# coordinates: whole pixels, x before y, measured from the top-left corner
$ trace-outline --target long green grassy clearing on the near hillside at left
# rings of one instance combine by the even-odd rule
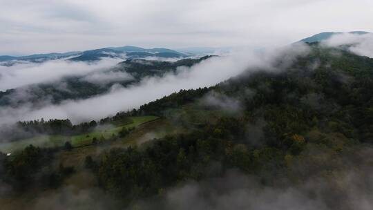
[[[117,135],[117,133],[124,127],[135,128],[146,122],[157,120],[157,118],[158,117],[155,116],[131,117],[131,120],[133,120],[133,123],[131,124],[126,124],[122,126],[103,126],[102,128],[97,128],[97,131],[84,133],[81,135],[43,135],[38,137],[32,137],[26,140],[19,140],[17,142],[3,143],[0,144],[0,151],[3,153],[12,153],[14,151],[23,149],[30,144],[39,147],[55,147],[63,146],[65,142],[70,142],[74,147],[86,146],[92,143],[94,137],[96,137],[97,139],[101,137],[108,138],[112,135]]]

